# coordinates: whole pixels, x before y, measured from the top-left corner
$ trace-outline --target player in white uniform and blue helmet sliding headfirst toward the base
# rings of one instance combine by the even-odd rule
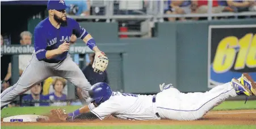
[[[133,95],[112,92],[107,83],[96,83],[90,90],[91,104],[66,114],[64,110],[54,109],[62,121],[75,119],[104,119],[113,115],[121,119],[153,120],[196,120],[202,118],[209,110],[222,103],[229,96],[256,95],[256,83],[249,74],[216,86],[207,92],[184,94],[171,84],[160,85],[157,95]]]

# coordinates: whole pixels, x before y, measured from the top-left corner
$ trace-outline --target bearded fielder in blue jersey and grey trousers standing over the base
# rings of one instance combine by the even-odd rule
[[[83,97],[88,97],[90,83],[68,54],[72,34],[83,40],[95,51],[94,72],[104,72],[108,58],[96,46],[95,40],[74,20],[66,17],[64,1],[48,1],[49,17],[35,28],[35,50],[30,63],[24,69],[19,81],[1,94],[1,109],[18,95],[28,91],[33,84],[48,77],[58,76],[68,79],[75,86],[82,88]]]

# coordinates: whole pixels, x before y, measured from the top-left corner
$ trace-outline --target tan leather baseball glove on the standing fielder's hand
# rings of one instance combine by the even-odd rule
[[[100,73],[104,72],[108,65],[108,58],[104,52],[95,52],[93,69],[94,72]]]

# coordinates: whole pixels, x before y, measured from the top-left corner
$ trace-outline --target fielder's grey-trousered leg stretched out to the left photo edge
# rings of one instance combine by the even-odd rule
[[[36,55],[32,55],[30,63],[27,65],[18,82],[7,88],[1,94],[1,109],[3,106],[11,103],[18,95],[30,90],[31,86],[51,77],[51,69],[48,69],[47,63],[38,61]]]

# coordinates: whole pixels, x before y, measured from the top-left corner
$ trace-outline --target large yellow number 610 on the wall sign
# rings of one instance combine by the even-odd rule
[[[236,63],[236,48],[238,54]],[[244,69],[245,64],[249,68],[256,68],[256,34],[246,34],[238,40],[237,37],[230,36],[220,41],[213,60],[213,70],[216,73],[223,73],[232,68]]]

